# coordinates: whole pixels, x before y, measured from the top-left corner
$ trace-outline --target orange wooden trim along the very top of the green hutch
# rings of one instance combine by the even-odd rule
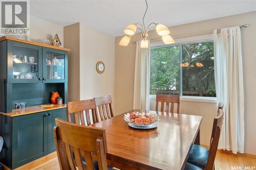
[[[33,41],[26,41],[26,40],[13,38],[13,37],[8,37],[8,36],[0,37],[0,41],[4,41],[4,40],[12,40],[12,41],[22,42],[22,43],[26,43],[26,44],[32,44],[32,45],[43,46],[43,47],[47,47],[47,48],[53,48],[53,49],[57,49],[57,50],[67,51],[67,52],[70,51],[70,49],[68,49],[68,48],[57,47],[57,46],[42,44],[42,43],[33,42]]]

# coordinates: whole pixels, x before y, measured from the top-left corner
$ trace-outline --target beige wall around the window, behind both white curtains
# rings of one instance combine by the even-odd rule
[[[242,53],[244,66],[244,89],[245,89],[245,152],[256,155],[256,114],[255,102],[256,95],[254,86],[256,84],[255,76],[255,39],[256,39],[256,12],[249,12],[239,15],[232,15],[222,18],[210,19],[185,25],[170,27],[172,36],[201,32],[219,28],[239,26],[248,23],[249,27],[242,29]],[[134,88],[134,65],[136,45],[130,43],[128,46],[118,45],[122,37],[116,37],[116,71],[115,71],[115,112],[120,114],[133,108],[133,88]],[[149,39],[160,38],[155,31],[151,31]],[[132,36],[132,41],[141,40],[141,36],[136,34]],[[154,108],[154,102],[151,101]],[[209,138],[212,127],[212,118],[215,116],[216,104],[203,102],[182,101],[180,112],[185,114],[202,115],[203,122],[201,126],[202,144],[209,144]]]

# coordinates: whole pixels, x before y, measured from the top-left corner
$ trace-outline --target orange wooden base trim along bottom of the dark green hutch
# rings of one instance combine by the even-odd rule
[[[15,168],[14,170],[22,170],[22,169],[32,169],[34,167],[37,167],[53,158],[56,158],[57,157],[57,153],[56,151],[51,153],[51,154],[48,154],[44,157],[41,157],[39,159],[36,159],[36,160],[33,160],[32,162],[29,162],[25,165],[22,165],[22,166],[19,166],[17,168]],[[2,164],[2,163],[1,163]],[[4,170],[10,170],[10,168],[8,168],[7,166],[5,166],[4,164],[2,164],[4,166]]]

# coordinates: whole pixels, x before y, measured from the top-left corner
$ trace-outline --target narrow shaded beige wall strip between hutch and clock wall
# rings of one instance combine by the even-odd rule
[[[69,78],[68,78],[68,99],[69,101],[76,101],[80,99],[80,25],[75,23],[64,27],[64,44],[65,47],[70,48],[69,51]]]

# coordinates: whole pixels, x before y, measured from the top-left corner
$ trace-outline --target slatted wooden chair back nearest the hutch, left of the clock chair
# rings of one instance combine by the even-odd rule
[[[94,99],[68,102],[67,117],[68,121],[78,125],[89,126],[97,121],[96,107]],[[90,115],[91,110],[91,115]],[[91,117],[93,122],[91,122]]]

